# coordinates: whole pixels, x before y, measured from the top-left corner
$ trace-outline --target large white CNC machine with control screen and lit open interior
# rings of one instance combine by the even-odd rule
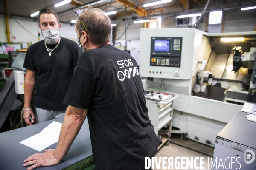
[[[253,88],[256,32],[141,28],[140,33],[145,90],[177,94],[172,126],[214,147],[215,136],[241,110]],[[244,39],[223,39],[237,37]]]

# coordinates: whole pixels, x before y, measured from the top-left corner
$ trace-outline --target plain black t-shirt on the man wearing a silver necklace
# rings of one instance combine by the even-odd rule
[[[53,49],[56,45],[47,47]],[[64,111],[67,108],[63,101],[81,53],[76,42],[62,37],[51,56],[44,40],[29,47],[23,67],[36,71],[36,107],[52,111]]]

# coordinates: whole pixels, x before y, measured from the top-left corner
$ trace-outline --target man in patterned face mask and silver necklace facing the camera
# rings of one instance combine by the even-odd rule
[[[29,125],[32,125],[29,117],[35,119],[30,106],[34,89],[39,123],[64,117],[67,105],[63,101],[82,53],[76,42],[60,37],[61,24],[54,11],[42,9],[38,18],[44,40],[29,47],[23,65],[26,68],[23,117]]]

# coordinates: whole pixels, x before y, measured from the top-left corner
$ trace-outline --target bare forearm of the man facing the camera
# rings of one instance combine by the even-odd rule
[[[35,89],[35,81],[30,81],[25,79],[24,85],[24,108],[30,108],[30,103],[32,95]]]

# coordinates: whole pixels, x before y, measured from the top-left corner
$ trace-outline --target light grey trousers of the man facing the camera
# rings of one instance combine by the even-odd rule
[[[64,117],[65,115],[65,111],[51,111],[41,108],[36,108],[36,112],[38,116],[38,123]]]

